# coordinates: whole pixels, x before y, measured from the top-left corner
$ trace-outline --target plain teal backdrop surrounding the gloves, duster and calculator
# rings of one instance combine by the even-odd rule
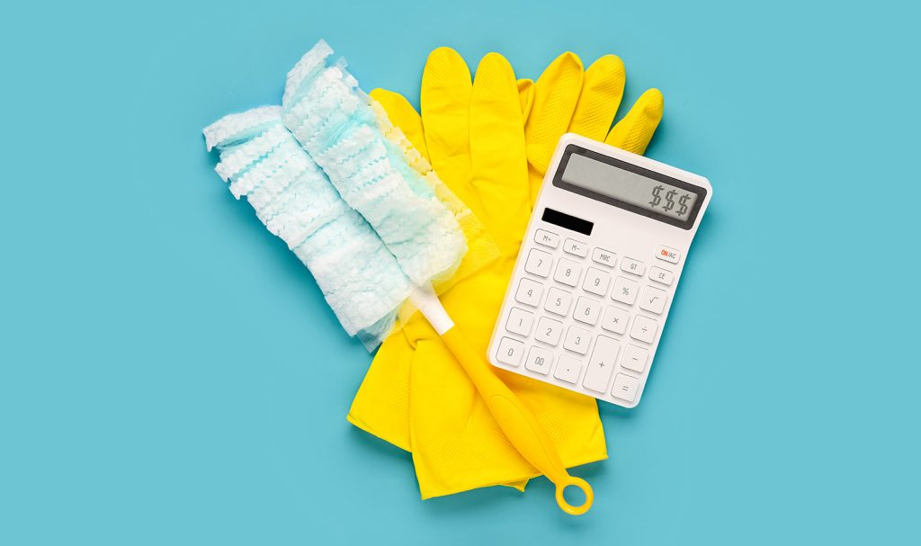
[[[919,13],[908,3],[17,3],[0,17],[0,543],[917,543]],[[648,155],[712,180],[643,403],[550,484],[421,502],[344,416],[370,355],[212,171],[319,38],[616,52]],[[625,108],[624,110],[625,111]],[[623,114],[622,111],[622,114]]]

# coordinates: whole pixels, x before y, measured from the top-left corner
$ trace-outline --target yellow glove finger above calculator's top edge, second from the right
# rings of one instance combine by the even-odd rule
[[[585,71],[569,132],[603,140],[624,98],[625,81],[624,62],[617,55],[604,55],[592,63]]]

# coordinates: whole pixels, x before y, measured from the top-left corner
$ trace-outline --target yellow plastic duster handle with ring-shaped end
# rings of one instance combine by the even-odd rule
[[[550,436],[547,436],[528,407],[495,375],[493,368],[484,358],[471,349],[457,326],[442,333],[441,339],[472,379],[508,441],[531,466],[554,482],[556,504],[560,505],[565,513],[573,516],[588,512],[595,500],[589,482],[569,475]],[[585,494],[585,502],[582,505],[574,506],[566,502],[563,493],[565,488],[570,486],[581,489]]]

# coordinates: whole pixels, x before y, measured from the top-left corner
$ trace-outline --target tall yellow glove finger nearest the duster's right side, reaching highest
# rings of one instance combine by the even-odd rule
[[[470,180],[470,69],[461,55],[440,47],[428,55],[422,74],[422,120],[432,166],[465,203]]]

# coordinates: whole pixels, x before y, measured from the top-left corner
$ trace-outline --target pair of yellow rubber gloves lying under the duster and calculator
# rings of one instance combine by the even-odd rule
[[[539,187],[556,140],[566,131],[603,138],[623,87],[623,64],[612,55],[583,73],[577,56],[565,53],[531,85],[516,82],[507,61],[491,53],[471,84],[461,56],[440,48],[426,63],[421,117],[402,96],[371,92],[502,251],[498,261],[441,296],[477,350],[486,351],[527,227],[531,188]],[[657,98],[658,115],[649,107]],[[658,91],[647,92],[609,138],[632,135],[637,143],[632,151],[643,151],[661,104]],[[522,112],[529,111],[526,128]],[[544,125],[552,130],[539,131]],[[616,138],[621,140],[615,144],[624,142]],[[496,372],[534,412],[567,467],[607,457],[594,399]],[[413,452],[423,498],[495,484],[523,489],[537,475],[508,444],[461,366],[420,317],[383,343],[348,420]]]

